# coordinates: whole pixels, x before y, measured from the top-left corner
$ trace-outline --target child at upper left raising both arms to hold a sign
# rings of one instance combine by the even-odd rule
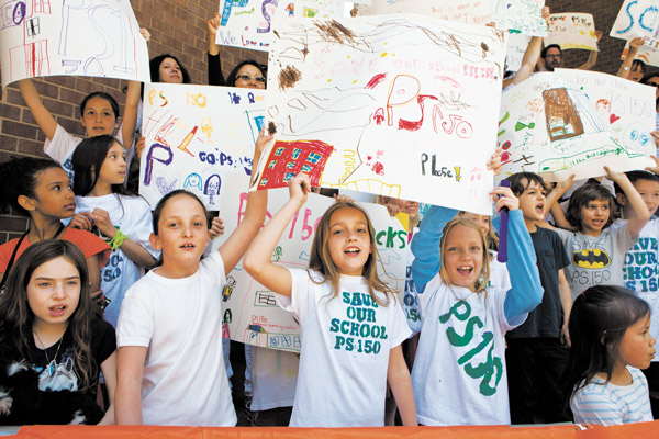
[[[137,124],[137,104],[139,102],[139,82],[129,81],[124,119],[121,127],[121,139],[127,149],[133,146],[135,126]],[[19,89],[32,116],[46,135],[44,153],[62,164],[69,172],[72,170],[71,155],[82,138],[69,134],[62,127],[46,109],[38,97],[32,79],[19,81]],[[96,91],[88,94],[80,104],[80,123],[88,137],[102,134],[113,135],[121,123],[119,104],[110,94]],[[72,177],[71,177],[72,179]]]

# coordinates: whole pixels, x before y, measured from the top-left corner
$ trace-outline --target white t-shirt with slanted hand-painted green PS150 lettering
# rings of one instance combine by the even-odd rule
[[[412,386],[418,423],[511,423],[504,335],[526,319],[507,322],[506,290],[476,294],[446,285],[437,274],[418,294],[422,328]]]

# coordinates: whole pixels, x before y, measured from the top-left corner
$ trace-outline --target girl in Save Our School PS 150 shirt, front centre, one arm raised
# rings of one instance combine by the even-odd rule
[[[392,291],[378,278],[375,236],[366,212],[353,203],[335,203],[325,212],[309,270],[289,270],[270,261],[309,189],[306,175],[289,181],[291,199],[254,239],[244,260],[247,272],[278,294],[280,306],[302,328],[290,425],[383,426],[389,382],[403,425],[414,426],[410,372],[400,346],[410,329]]]

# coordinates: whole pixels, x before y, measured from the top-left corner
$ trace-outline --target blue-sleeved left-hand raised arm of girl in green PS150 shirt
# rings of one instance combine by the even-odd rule
[[[412,279],[418,294],[423,293],[425,285],[439,272],[439,240],[444,234],[444,226],[457,214],[455,209],[431,206],[421,222],[418,232],[412,238]]]

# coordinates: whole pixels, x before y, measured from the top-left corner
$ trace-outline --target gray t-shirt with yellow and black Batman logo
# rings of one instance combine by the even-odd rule
[[[570,283],[572,301],[593,285],[623,285],[625,252],[638,240],[632,238],[628,227],[607,228],[600,236],[581,232],[557,229],[563,243],[570,264],[566,277]]]

